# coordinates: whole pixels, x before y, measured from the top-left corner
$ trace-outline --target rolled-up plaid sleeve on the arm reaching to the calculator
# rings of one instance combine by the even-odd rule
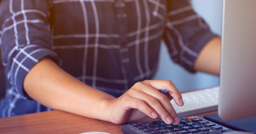
[[[46,0],[4,0],[0,3],[0,45],[7,88],[27,98],[23,81],[43,57],[60,59],[52,50],[49,5]],[[28,97],[29,98],[29,97]]]

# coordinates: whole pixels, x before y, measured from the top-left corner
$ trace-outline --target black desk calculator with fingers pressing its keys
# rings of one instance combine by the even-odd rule
[[[180,118],[179,125],[167,125],[162,120],[121,125],[124,134],[220,134],[232,131],[209,120],[189,116]]]

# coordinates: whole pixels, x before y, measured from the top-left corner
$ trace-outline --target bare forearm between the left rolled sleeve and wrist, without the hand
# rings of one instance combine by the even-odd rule
[[[106,100],[114,99],[72,77],[48,58],[29,71],[24,89],[45,106],[101,120],[108,120],[100,113],[106,108]]]

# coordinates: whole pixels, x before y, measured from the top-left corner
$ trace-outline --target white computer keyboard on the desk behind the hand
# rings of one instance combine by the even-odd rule
[[[182,99],[184,101],[183,106],[178,106],[173,99],[171,100],[171,104],[179,117],[217,110],[219,86],[182,93]]]

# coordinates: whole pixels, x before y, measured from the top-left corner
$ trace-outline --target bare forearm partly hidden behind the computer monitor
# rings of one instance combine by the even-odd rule
[[[220,48],[220,37],[211,39],[199,53],[194,69],[217,76],[220,75]]]

